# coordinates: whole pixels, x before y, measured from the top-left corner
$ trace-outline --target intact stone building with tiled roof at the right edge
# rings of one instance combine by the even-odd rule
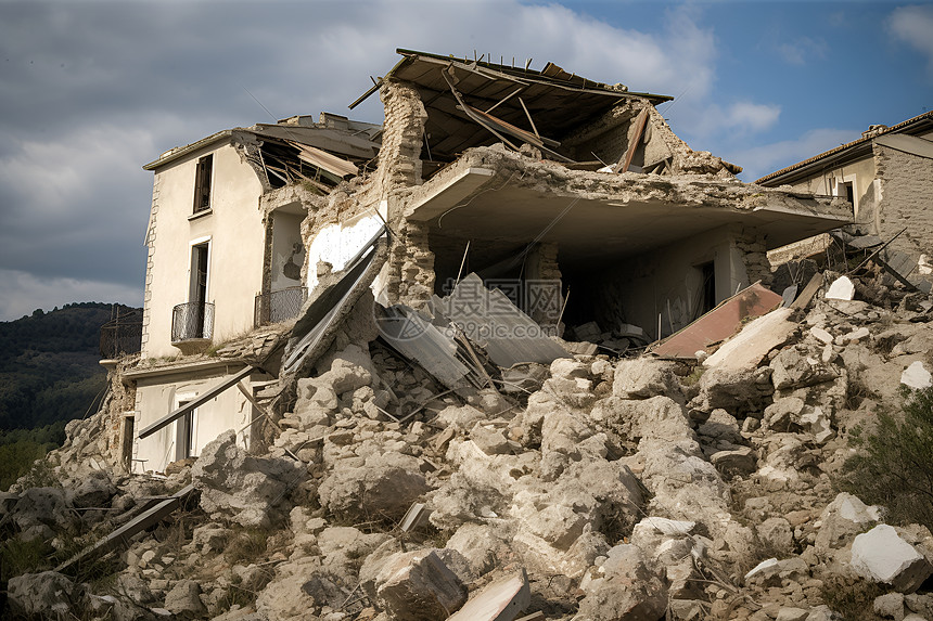
[[[915,262],[933,257],[933,112],[893,127],[873,125],[858,140],[755,183],[843,198],[860,233],[887,242],[906,228],[891,247]]]

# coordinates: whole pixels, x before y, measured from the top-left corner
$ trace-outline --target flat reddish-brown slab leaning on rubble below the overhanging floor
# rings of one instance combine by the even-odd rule
[[[696,351],[736,334],[749,318],[762,316],[783,302],[778,294],[759,283],[742,289],[724,300],[680,332],[667,337],[650,351],[667,358],[695,358]]]

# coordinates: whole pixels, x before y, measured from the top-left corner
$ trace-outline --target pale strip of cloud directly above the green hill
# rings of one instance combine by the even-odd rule
[[[54,307],[77,301],[119,302],[142,306],[142,284],[139,288],[100,281],[76,279],[38,279],[18,270],[0,269],[0,321],[12,321],[30,314],[37,308],[49,311]]]

